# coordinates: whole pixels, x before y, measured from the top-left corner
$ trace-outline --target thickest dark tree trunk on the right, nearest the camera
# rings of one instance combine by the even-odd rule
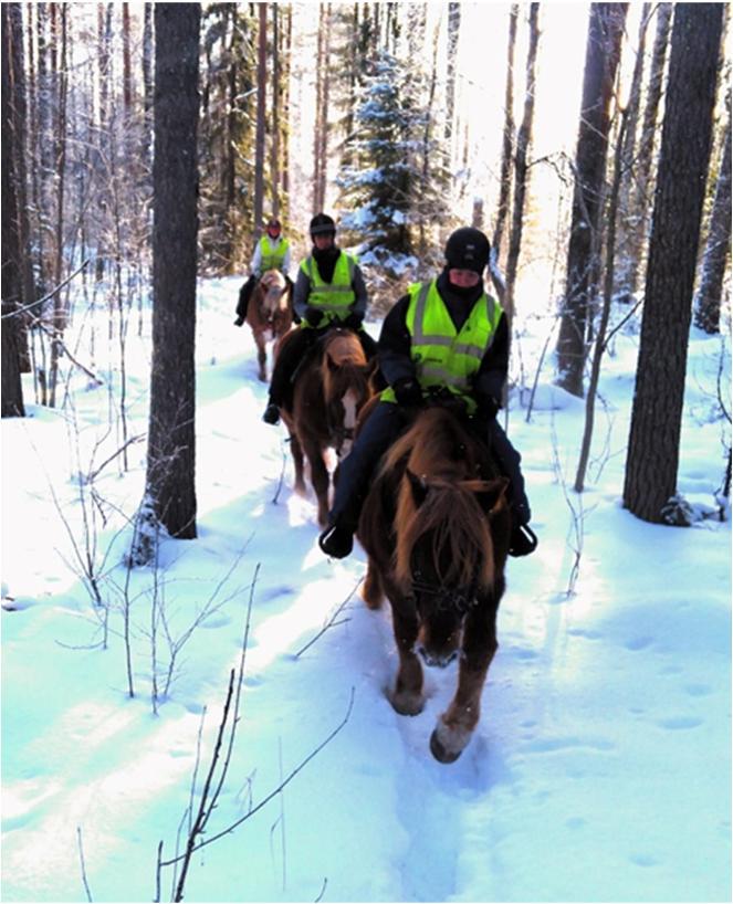
[[[721,3],[678,3],[631,411],[624,505],[664,523],[674,495],[700,221],[705,191]]]

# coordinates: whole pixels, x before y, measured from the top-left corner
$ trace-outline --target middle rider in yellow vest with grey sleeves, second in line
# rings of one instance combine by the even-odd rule
[[[336,223],[326,213],[317,213],[310,229],[313,250],[299,267],[293,293],[293,309],[302,323],[290,334],[275,361],[270,398],[262,416],[270,424],[280,420],[280,407],[287,397],[295,368],[329,327],[353,329],[367,358],[377,354],[377,344],[362,327],[367,292],[356,257],[338,248]]]

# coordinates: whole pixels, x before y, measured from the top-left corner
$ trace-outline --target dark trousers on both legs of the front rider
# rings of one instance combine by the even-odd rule
[[[331,509],[331,523],[356,530],[364,500],[379,459],[407,425],[407,416],[399,404],[379,402],[364,424],[350,453],[338,466],[338,484]],[[478,435],[486,438],[500,471],[510,480],[510,504],[515,521],[527,524],[531,517],[530,502],[524,490],[520,453],[509,441],[495,418],[486,424],[474,422]]]

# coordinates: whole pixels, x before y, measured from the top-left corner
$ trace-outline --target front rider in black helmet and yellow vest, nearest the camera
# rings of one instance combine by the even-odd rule
[[[455,230],[448,239],[440,275],[412,284],[385,318],[379,367],[389,386],[341,462],[328,527],[318,538],[326,555],[344,558],[352,551],[377,462],[409,414],[434,395],[472,416],[510,477],[510,555],[526,556],[536,548],[537,538],[527,526],[531,513],[521,458],[496,421],[509,367],[509,330],[504,312],[483,286],[489,253],[483,232],[470,227]]]

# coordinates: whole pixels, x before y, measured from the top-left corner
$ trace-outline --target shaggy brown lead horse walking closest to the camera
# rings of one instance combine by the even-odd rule
[[[366,498],[358,538],[368,554],[364,598],[389,598],[399,652],[390,701],[421,712],[422,666],[460,652],[458,687],[430,749],[453,763],[471,739],[481,692],[498,649],[511,515],[505,477],[451,411],[428,408],[384,456]]]

